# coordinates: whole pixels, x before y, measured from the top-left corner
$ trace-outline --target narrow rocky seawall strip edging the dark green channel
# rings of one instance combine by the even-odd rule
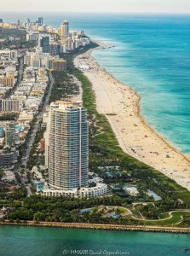
[[[27,221],[27,223],[0,223],[0,226],[25,226],[42,228],[65,228],[80,230],[110,230],[110,231],[133,231],[133,232],[155,232],[170,234],[190,235],[190,228],[169,227],[169,226],[144,226],[144,225],[122,225],[122,224],[85,224],[85,223],[59,223],[59,222],[36,222]]]

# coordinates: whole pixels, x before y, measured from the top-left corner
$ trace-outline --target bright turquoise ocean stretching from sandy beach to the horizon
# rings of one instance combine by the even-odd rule
[[[0,14],[37,20],[33,14]],[[141,113],[165,139],[190,154],[190,15],[39,14],[45,23],[82,29],[114,45],[93,56],[141,96]]]

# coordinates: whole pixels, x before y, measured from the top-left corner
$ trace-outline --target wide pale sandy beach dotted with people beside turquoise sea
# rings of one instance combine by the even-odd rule
[[[79,55],[75,66],[92,83],[97,111],[107,116],[120,147],[190,190],[190,158],[178,152],[147,124],[141,116],[140,96],[100,67],[90,52]]]

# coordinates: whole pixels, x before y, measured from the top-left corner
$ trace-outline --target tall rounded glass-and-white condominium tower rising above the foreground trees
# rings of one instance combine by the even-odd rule
[[[89,123],[79,102],[53,102],[46,134],[46,165],[54,189],[88,185]]]

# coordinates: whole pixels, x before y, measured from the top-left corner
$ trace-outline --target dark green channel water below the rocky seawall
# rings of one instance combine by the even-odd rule
[[[190,255],[189,240],[164,233],[1,226],[0,255],[183,256]]]

